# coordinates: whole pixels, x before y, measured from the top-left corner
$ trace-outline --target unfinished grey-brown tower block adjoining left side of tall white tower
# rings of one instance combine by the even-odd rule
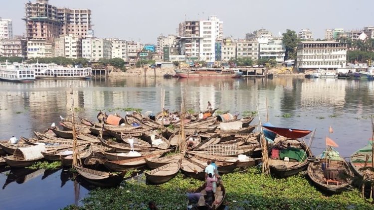
[[[179,24],[179,36],[181,55],[185,55],[187,61],[200,60],[200,21],[185,21]]]

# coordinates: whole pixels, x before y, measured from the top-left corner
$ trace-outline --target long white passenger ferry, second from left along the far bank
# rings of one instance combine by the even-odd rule
[[[30,64],[36,79],[90,79],[92,69],[88,67],[64,67],[57,64]]]

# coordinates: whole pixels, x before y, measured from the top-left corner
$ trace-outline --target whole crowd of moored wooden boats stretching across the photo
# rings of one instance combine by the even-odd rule
[[[125,117],[99,114],[98,122],[62,118],[60,125],[64,129],[51,127],[44,133],[35,132],[33,138],[21,137],[16,144],[0,143],[0,154],[7,154],[0,159],[0,164],[26,167],[45,159],[60,160],[64,167],[71,167],[73,127],[77,130],[78,158],[83,163],[77,172],[99,186],[116,186],[125,173],[133,169],[150,169],[145,172],[148,183],[162,184],[179,171],[188,177],[204,180],[208,160],[215,161],[219,173],[230,173],[236,167],[260,163],[261,135],[253,133],[255,126],[250,124],[253,116],[237,119],[228,112],[215,116],[212,112],[214,110],[207,110],[200,116],[198,113],[189,114],[184,123],[181,123],[179,113],[167,111],[156,116],[136,112]],[[73,124],[73,121],[77,123]],[[338,145],[331,139],[326,140],[329,142],[326,150],[314,157],[310,145],[299,140],[311,130],[276,127],[270,123],[262,127],[267,140],[267,162],[273,175],[288,177],[307,170],[316,186],[334,193],[351,184],[354,174],[339,156],[335,149]],[[184,132],[180,132],[181,129]],[[99,134],[103,137],[97,137]],[[372,173],[361,169],[372,164],[370,155],[365,156],[371,152],[372,142],[351,158],[354,171],[367,180],[373,179]]]

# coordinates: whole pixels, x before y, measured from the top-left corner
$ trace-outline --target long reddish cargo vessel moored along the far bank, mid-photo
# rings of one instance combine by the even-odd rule
[[[174,71],[181,78],[237,78],[243,74],[239,70],[224,68],[181,68]]]

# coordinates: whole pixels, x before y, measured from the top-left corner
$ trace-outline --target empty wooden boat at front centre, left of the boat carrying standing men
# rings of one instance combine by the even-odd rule
[[[145,174],[148,182],[159,185],[168,182],[173,177],[175,177],[178,174],[180,168],[180,161],[177,161],[156,168],[150,172],[145,172]]]

